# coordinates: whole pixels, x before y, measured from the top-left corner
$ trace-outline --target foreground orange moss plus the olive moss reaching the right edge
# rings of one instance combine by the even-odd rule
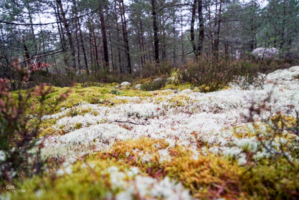
[[[199,141],[198,148],[200,144]],[[156,152],[166,148],[171,159],[160,163]],[[142,161],[146,154],[151,155],[149,163]],[[199,199],[251,199],[256,195],[284,199],[299,190],[299,163],[292,167],[282,157],[277,158],[279,163],[278,160],[265,159],[255,166],[239,166],[236,160],[215,154],[199,154],[196,158],[193,155],[193,151],[186,147],[169,147],[163,139],[140,138],[120,141],[105,154],[92,159],[109,159],[138,166],[142,172],[154,177],[168,176],[181,182],[193,197]]]

